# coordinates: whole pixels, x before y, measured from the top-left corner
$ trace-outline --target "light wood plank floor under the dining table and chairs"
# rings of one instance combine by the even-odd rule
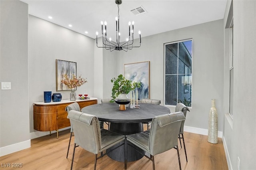
[[[42,136],[31,140],[31,148],[21,150],[6,156],[0,157],[1,170],[68,170],[70,169],[72,152],[74,146],[74,137],[72,137],[70,152],[66,159],[66,152],[70,130],[59,132],[59,138],[56,133],[51,136]],[[184,148],[180,148],[180,161],[182,170],[228,170],[226,156],[222,139],[218,138],[218,144],[207,142],[207,136],[184,133],[188,162],[184,153]],[[178,156],[175,149],[171,149],[162,154],[154,156],[156,170],[178,170]],[[7,167],[4,165],[10,163],[22,163],[21,168]],[[128,170],[152,170],[152,162],[146,157],[134,162],[128,162]],[[73,170],[91,170],[94,167],[94,154],[76,148]],[[122,170],[123,162],[112,160],[104,156],[97,160],[97,170]]]

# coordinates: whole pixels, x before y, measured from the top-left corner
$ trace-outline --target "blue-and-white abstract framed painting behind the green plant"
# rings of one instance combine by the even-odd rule
[[[138,100],[150,99],[150,61],[124,64],[124,77],[142,83],[138,89]]]

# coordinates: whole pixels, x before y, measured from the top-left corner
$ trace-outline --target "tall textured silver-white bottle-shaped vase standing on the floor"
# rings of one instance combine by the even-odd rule
[[[218,143],[218,113],[215,107],[215,99],[212,99],[212,107],[209,111],[208,142]]]

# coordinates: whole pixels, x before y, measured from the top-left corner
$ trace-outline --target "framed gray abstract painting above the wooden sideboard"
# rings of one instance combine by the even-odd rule
[[[68,75],[72,78],[73,75],[76,76],[76,62],[64,61],[56,59],[56,90],[70,90],[66,85],[61,83],[63,75]]]

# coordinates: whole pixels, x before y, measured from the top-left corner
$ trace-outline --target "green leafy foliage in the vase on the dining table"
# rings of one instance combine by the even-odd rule
[[[140,88],[141,82],[133,82],[126,79],[122,74],[118,75],[117,78],[111,79],[111,82],[114,83],[112,88],[112,102],[120,94],[128,94],[130,91],[134,90],[136,87]],[[110,101],[111,102],[111,101]]]

